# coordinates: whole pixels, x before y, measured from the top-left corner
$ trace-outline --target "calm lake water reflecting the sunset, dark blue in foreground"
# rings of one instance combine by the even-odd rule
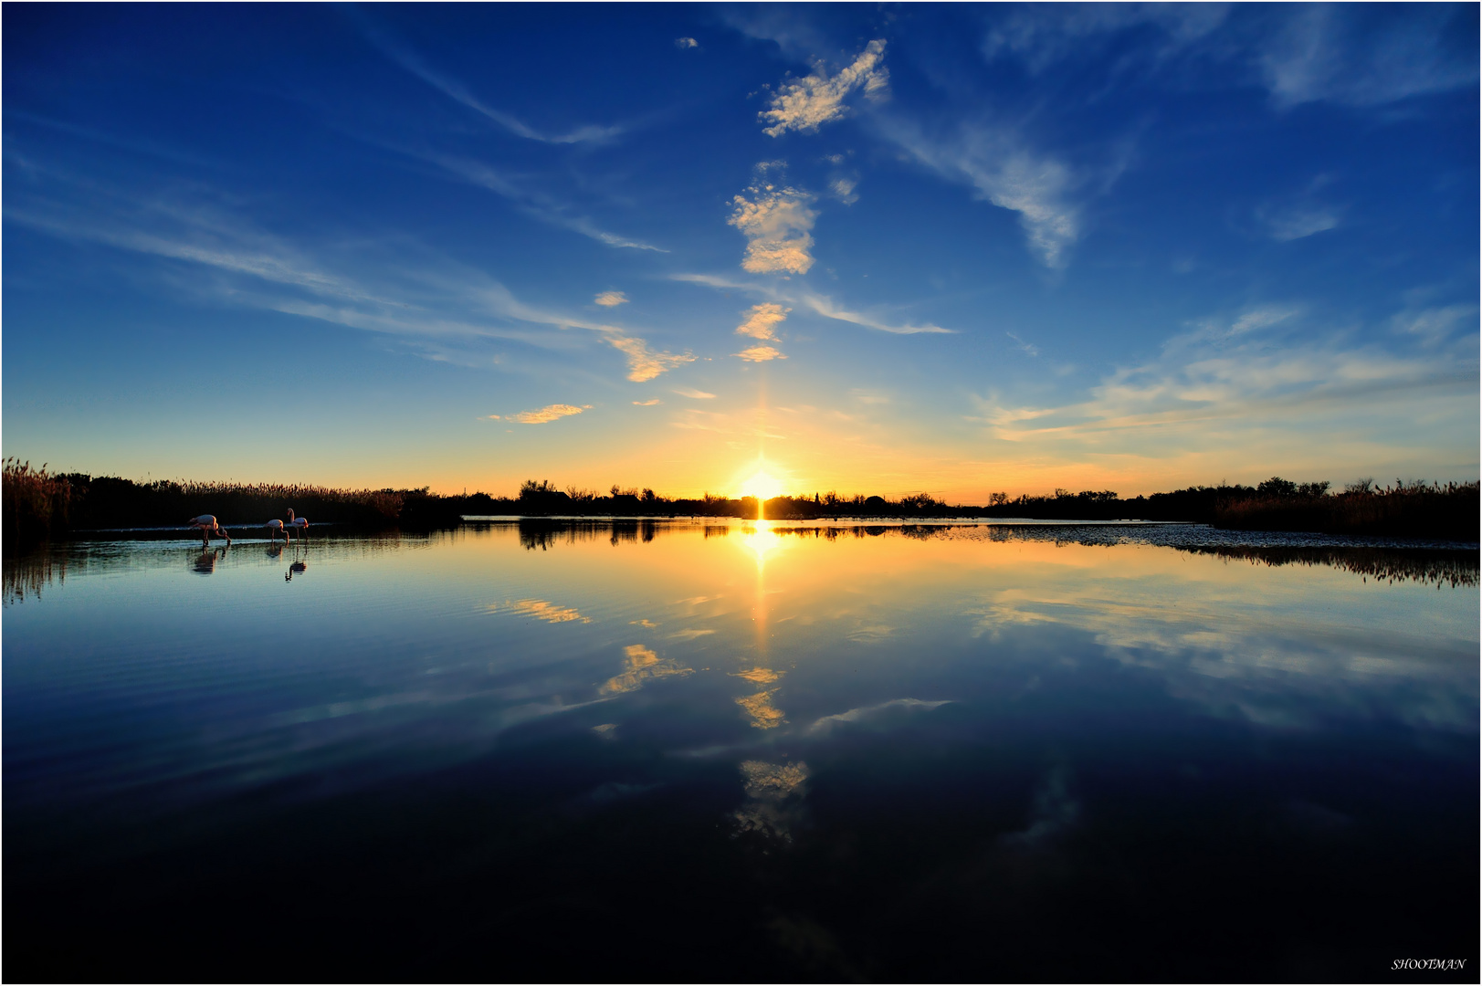
[[[6,979],[1475,982],[1476,553],[1156,538],[7,568]]]

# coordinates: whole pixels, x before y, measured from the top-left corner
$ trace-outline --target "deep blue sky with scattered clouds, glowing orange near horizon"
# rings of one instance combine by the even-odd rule
[[[1476,4],[4,4],[3,451],[1475,480]]]

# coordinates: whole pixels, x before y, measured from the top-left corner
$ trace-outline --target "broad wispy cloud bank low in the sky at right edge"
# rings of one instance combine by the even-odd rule
[[[1297,319],[1270,305],[1209,320],[1168,340],[1157,357],[1103,377],[1082,402],[980,399],[975,420],[1036,458],[1114,463],[1141,482],[1276,469],[1365,474],[1438,455],[1476,469],[1475,335],[1403,354],[1340,332],[1315,337]],[[1417,443],[1400,421],[1426,421],[1427,440]]]

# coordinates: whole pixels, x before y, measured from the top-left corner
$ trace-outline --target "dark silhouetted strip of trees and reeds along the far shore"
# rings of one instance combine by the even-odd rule
[[[1240,531],[1312,531],[1455,541],[1478,540],[1479,486],[1470,483],[1405,483],[1375,486],[1362,480],[1331,491],[1329,483],[1294,483],[1272,477],[1258,486],[1189,486],[1123,500],[1110,489],[1049,495],[991,494],[984,506],[947,504],[929,494],[898,500],[837,492],[775,497],[705,494],[670,498],[652,489],[612,486],[606,492],[550,480],[526,480],[516,497],[485,492],[445,497],[421,489],[329,489],[230,482],[133,482],[116,476],[50,473],[46,466],[4,460],[3,540],[13,555],[49,535],[117,528],[173,528],[215,514],[228,528],[256,526],[283,517],[292,507],[313,523],[356,528],[436,528],[465,514],[617,516],[617,517],[1033,517],[1045,520],[1192,520]]]

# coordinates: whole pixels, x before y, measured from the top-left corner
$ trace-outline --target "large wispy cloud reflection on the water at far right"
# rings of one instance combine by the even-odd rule
[[[1149,590],[1134,584],[1125,592]],[[1356,627],[1341,612],[1236,609],[1212,596],[1178,603],[1049,600],[1005,590],[975,615],[978,633],[996,642],[1046,624],[1089,633],[1107,657],[1160,675],[1172,697],[1258,725],[1304,728],[1341,716],[1476,728],[1475,642],[1443,633],[1420,641],[1418,629],[1405,626]]]

